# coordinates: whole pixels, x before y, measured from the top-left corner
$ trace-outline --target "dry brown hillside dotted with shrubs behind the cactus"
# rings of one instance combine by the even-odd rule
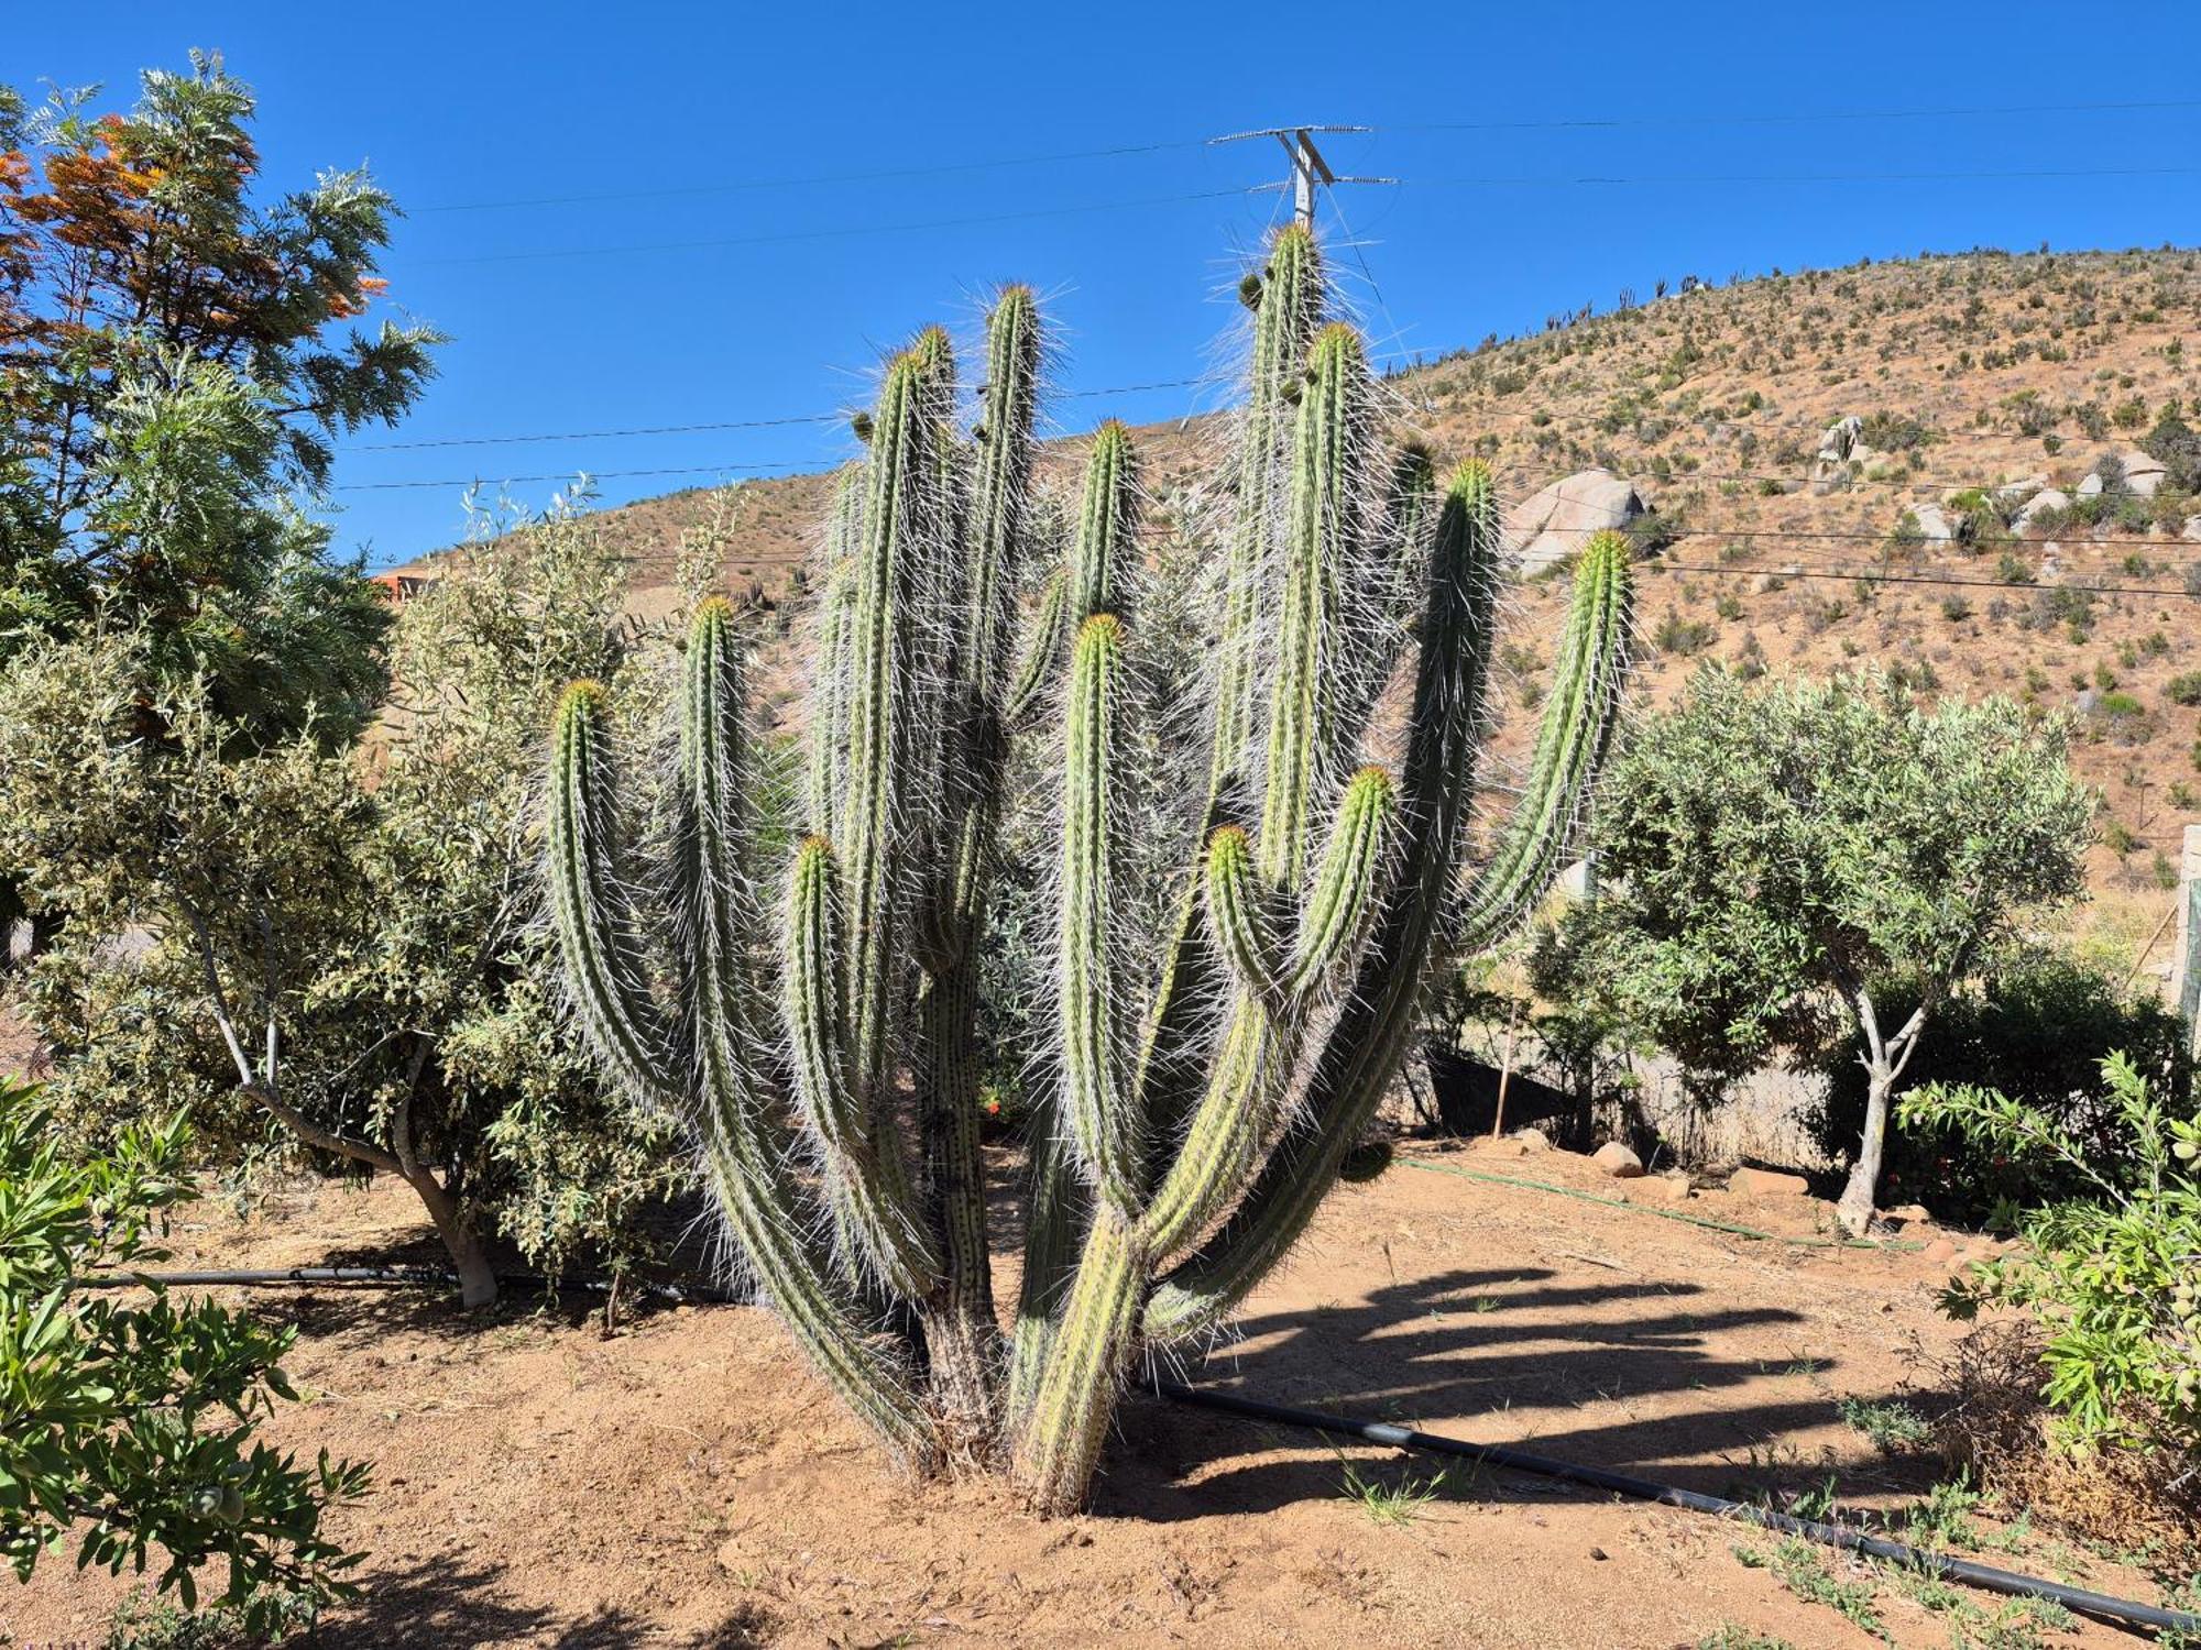
[[[1481,451],[1514,497],[1589,466],[1635,484],[1651,532],[1671,539],[1640,616],[1651,702],[1701,658],[1772,673],[1877,660],[1928,691],[2076,711],[2078,763],[2104,796],[2084,924],[2133,955],[2166,904],[2157,878],[2179,829],[2201,816],[2197,711],[2177,702],[2192,689],[2170,686],[2201,669],[2188,594],[2201,543],[2186,539],[2201,504],[2166,486],[2104,524],[2012,530],[1950,499],[2027,477],[2073,493],[2104,453],[2135,451],[2166,403],[2192,411],[2197,306],[2201,257],[2186,251],[1921,257],[1574,317],[1406,367],[1391,389],[1404,429],[1446,455]],[[1820,438],[1844,416],[1875,451],[1814,484]],[[1147,436],[1167,517],[1202,431]],[[823,497],[823,477],[799,475],[671,493],[605,524],[636,557],[645,605],[680,532],[711,519],[729,583],[788,596]],[[1906,513],[1928,506],[1972,535],[1906,535]],[[1554,585],[1521,587],[1501,755],[1519,752],[1558,614]]]

